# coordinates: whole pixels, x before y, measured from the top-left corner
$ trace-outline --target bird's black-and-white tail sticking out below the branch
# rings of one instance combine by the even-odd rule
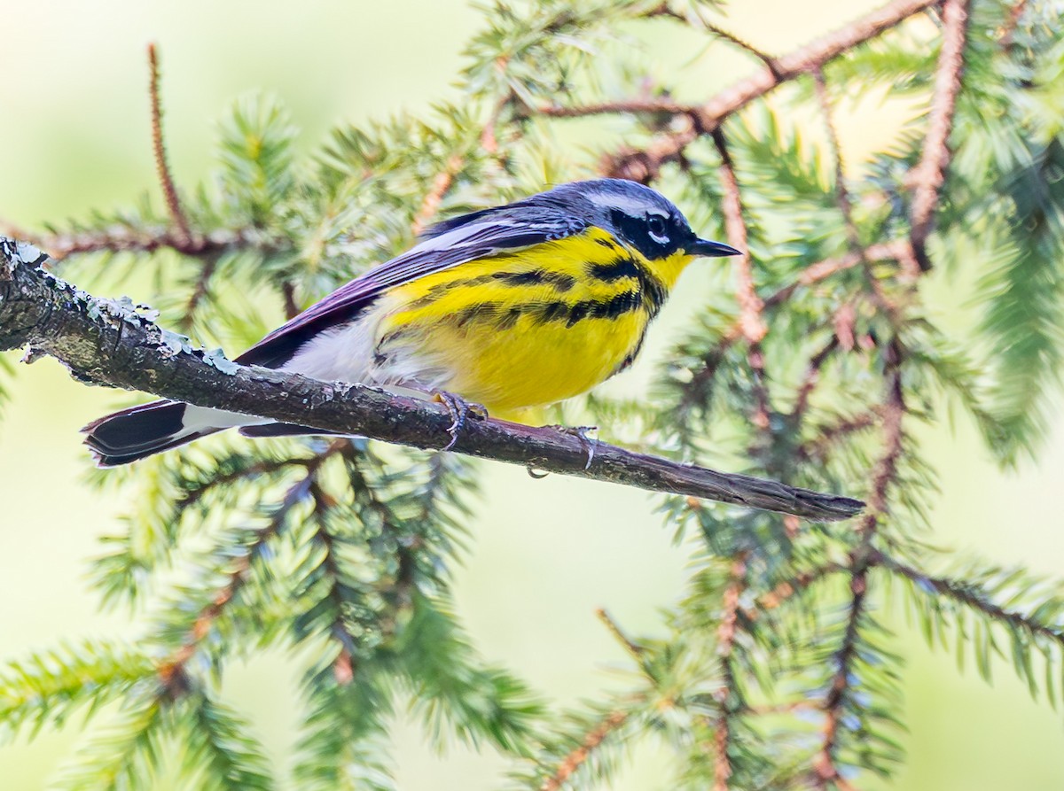
[[[100,467],[117,467],[168,451],[254,418],[180,401],[153,401],[93,421],[82,432]]]

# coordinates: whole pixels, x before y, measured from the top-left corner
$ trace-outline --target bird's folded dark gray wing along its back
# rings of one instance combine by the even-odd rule
[[[525,208],[520,220],[495,212],[500,209],[478,212],[467,216],[468,219],[459,218],[430,229],[419,245],[340,286],[271,332],[236,361],[269,368],[283,366],[314,335],[351,321],[394,286],[502,251],[561,239],[586,228],[586,223],[554,208]]]

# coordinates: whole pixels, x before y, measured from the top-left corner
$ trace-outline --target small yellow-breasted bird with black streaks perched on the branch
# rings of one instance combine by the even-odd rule
[[[435,397],[453,444],[470,405],[519,418],[624,371],[687,265],[739,254],[648,186],[571,182],[432,225],[235,361]],[[97,465],[115,467],[233,427],[326,433],[170,400],[82,431]]]

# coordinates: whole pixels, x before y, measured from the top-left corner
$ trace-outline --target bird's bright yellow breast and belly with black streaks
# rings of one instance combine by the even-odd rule
[[[591,229],[461,264],[382,297],[376,360],[495,414],[562,401],[632,361],[691,260],[650,262]]]

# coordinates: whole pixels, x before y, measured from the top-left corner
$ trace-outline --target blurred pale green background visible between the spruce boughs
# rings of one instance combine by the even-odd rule
[[[868,5],[748,0],[730,10],[729,27],[782,51]],[[179,186],[190,188],[209,173],[214,119],[240,92],[279,95],[309,152],[334,123],[417,112],[452,96],[460,50],[479,18],[464,0],[4,0],[0,218],[37,229],[130,203],[146,190],[157,199],[146,90],[149,41],[161,48],[170,163]],[[704,86],[709,95],[745,68],[717,51],[676,64],[689,69],[688,87]],[[891,102],[848,108],[839,127],[850,167],[883,145],[907,112]],[[931,313],[963,332],[972,321],[964,297],[970,284],[947,284],[942,274],[926,284]],[[642,386],[704,286],[698,271],[685,275],[642,365],[610,387]],[[89,461],[78,428],[119,400],[74,383],[52,360],[18,371],[0,422],[0,657],[61,638],[137,634],[128,617],[99,611],[84,575],[99,536],[121,529],[116,515],[122,503],[84,485]],[[994,467],[964,422],[926,432],[924,444],[942,475],[934,543],[1061,574],[1064,520],[1057,491],[1064,481],[1064,421],[1057,422],[1038,464],[1014,473]],[[616,683],[615,669],[626,657],[595,608],[606,607],[633,634],[655,633],[661,608],[680,594],[687,551],[672,545],[653,512],[654,499],[642,492],[558,476],[533,482],[520,469],[494,465],[479,470],[482,503],[466,563],[455,574],[461,617],[483,654],[559,705],[597,696]],[[896,788],[1064,788],[1059,713],[1031,702],[1004,666],[987,687],[970,671],[959,674],[951,656],[931,653],[900,615],[891,620],[910,662],[909,762]],[[281,656],[263,656],[232,669],[227,691],[283,765],[294,739],[293,669]],[[79,729],[71,722],[32,743],[0,747],[0,788],[44,787]],[[437,756],[413,722],[397,723],[396,733],[404,791],[501,785],[505,763],[495,756],[462,747]],[[648,745],[614,788],[665,788],[666,761]]]

